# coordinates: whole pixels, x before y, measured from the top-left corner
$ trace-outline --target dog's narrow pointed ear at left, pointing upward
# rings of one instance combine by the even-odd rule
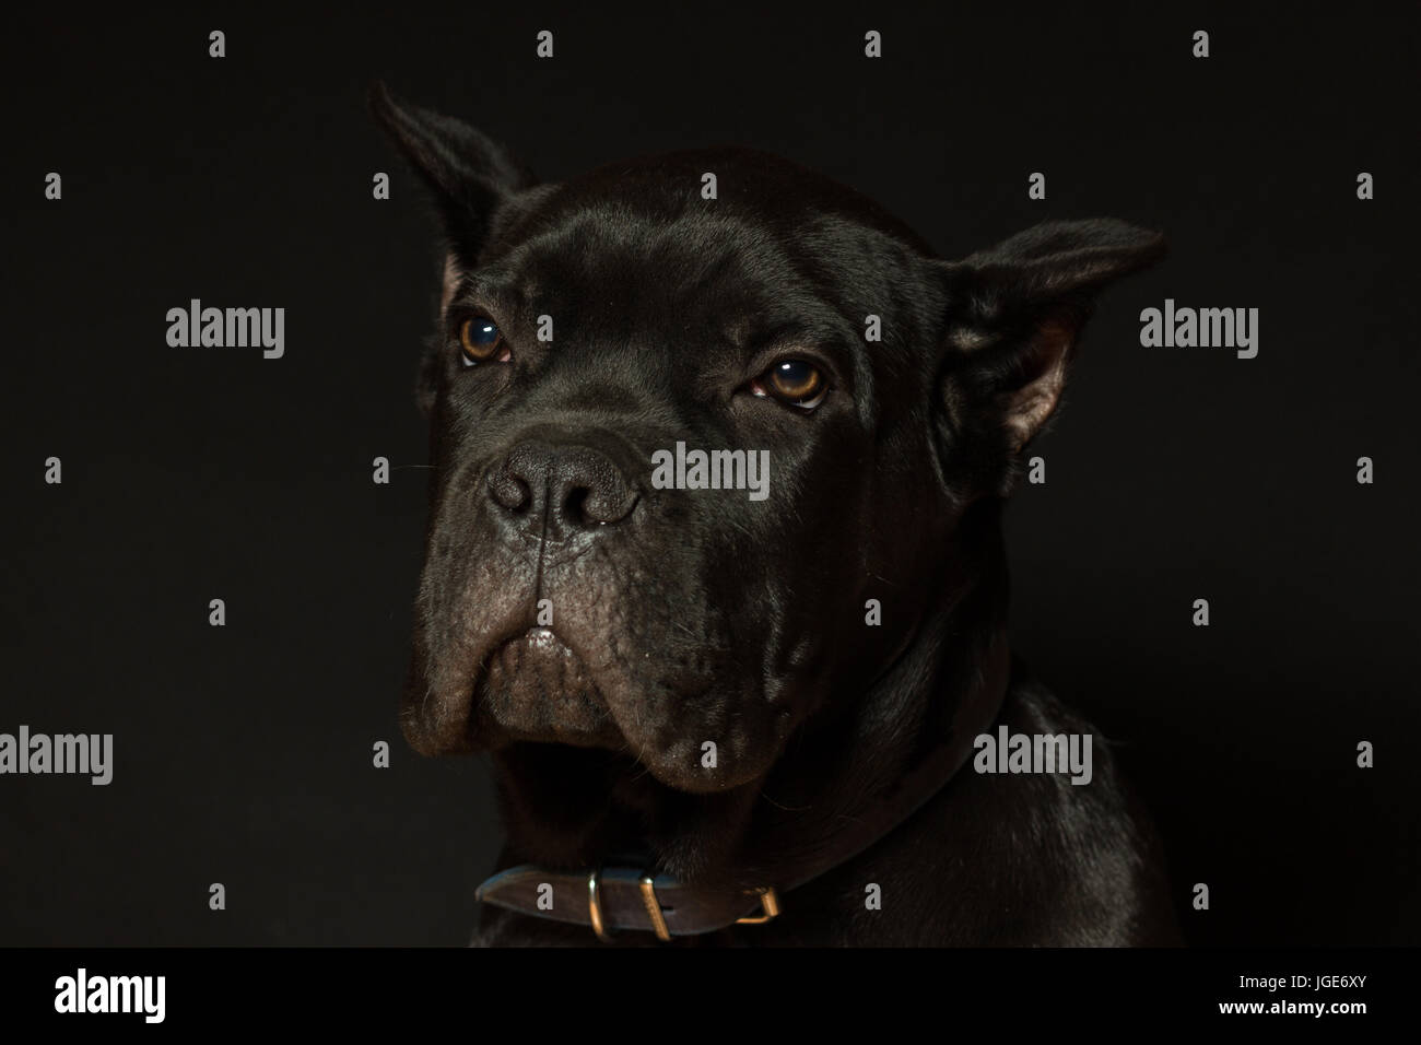
[[[371,84],[369,108],[433,196],[450,246],[466,257],[483,246],[499,203],[537,183],[482,131],[396,100],[384,81]]]

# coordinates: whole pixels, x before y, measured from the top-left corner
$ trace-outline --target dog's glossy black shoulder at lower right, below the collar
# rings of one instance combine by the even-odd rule
[[[824,900],[843,918],[828,943],[1178,943],[1158,840],[1111,742],[1019,663],[993,739],[1000,727],[1076,736],[1077,751],[1088,736],[1088,782],[1076,773],[1073,783],[1069,771],[996,772],[1000,763],[986,772],[969,759],[911,820],[821,886],[837,893],[837,904]]]

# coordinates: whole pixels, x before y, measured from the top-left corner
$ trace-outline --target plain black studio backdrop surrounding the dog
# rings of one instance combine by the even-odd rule
[[[1007,510],[1013,647],[1121,745],[1192,943],[1421,941],[1415,34],[1404,4],[11,21],[0,731],[115,754],[108,786],[0,778],[0,944],[468,940],[487,771],[416,758],[395,721],[439,254],[375,77],[546,179],[777,152],[946,257],[1049,218],[1165,230]],[[284,307],[284,357],[169,347],[195,297]],[[1256,307],[1256,358],[1142,348],[1167,297]]]

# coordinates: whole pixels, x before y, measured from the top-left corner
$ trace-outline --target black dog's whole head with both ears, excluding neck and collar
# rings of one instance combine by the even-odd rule
[[[1097,220],[946,263],[760,152],[537,185],[458,121],[374,107],[448,232],[402,718],[425,754],[622,751],[691,793],[763,778],[949,597],[956,523],[1010,489],[1090,297],[1161,252]],[[654,482],[678,444],[767,482]]]

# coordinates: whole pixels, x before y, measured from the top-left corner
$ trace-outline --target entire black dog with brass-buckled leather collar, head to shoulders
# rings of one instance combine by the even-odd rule
[[[543,185],[371,101],[448,235],[402,725],[492,752],[475,943],[1172,943],[1108,751],[1088,783],[973,754],[1091,732],[1007,653],[1000,510],[1093,294],[1162,239],[949,263],[762,152]]]

